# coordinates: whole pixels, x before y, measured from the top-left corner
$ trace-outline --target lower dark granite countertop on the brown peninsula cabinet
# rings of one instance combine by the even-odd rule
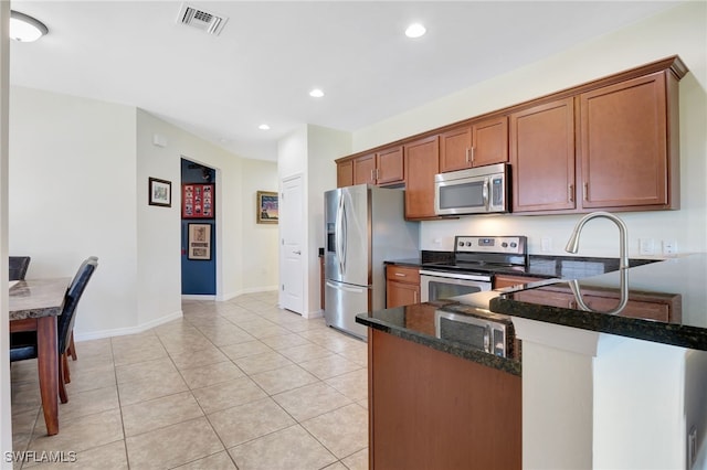
[[[498,368],[514,375],[520,375],[520,361],[516,357],[498,357],[460,342],[443,340],[435,335],[434,312],[442,307],[453,308],[464,313],[466,307],[453,301],[415,303],[407,307],[378,310],[356,316],[356,322],[374,328],[394,337],[402,338],[458,357]],[[473,309],[468,307],[468,309]]]

